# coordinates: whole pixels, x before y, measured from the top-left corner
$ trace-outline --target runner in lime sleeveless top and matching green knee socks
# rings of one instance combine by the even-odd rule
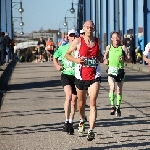
[[[109,99],[111,103],[111,115],[121,116],[120,105],[122,101],[122,87],[125,78],[124,61],[129,59],[125,45],[121,45],[120,35],[114,31],[111,34],[112,44],[106,47],[104,64],[108,65],[108,83],[110,86]],[[117,104],[115,106],[115,82],[117,82]]]

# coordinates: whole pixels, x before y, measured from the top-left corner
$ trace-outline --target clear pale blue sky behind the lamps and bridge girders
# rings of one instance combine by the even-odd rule
[[[113,0],[110,0],[113,1]],[[121,0],[120,0],[121,1]],[[20,0],[13,0],[13,2],[20,2]],[[139,0],[139,26],[143,26],[143,0]],[[74,25],[74,15],[70,13],[69,9],[71,8],[72,0],[22,0],[22,7],[24,12],[22,13],[22,20],[24,22],[23,31],[24,33],[31,33],[32,31],[38,31],[41,28],[44,30],[58,30],[58,28],[65,28],[63,26],[63,21],[65,15],[70,17],[68,19],[69,29],[73,28]],[[77,17],[77,3],[78,0],[73,0],[74,8],[76,10],[75,18]],[[132,19],[132,6],[133,3],[131,0],[127,0],[128,10],[127,10],[127,28],[132,28],[133,19]],[[15,3],[12,4],[14,6]],[[121,3],[120,3],[121,5]],[[13,7],[13,17],[20,17],[18,12],[19,4]],[[121,9],[121,6],[120,6]],[[112,10],[111,10],[112,11]],[[120,14],[121,16],[121,14]],[[20,32],[19,26],[20,19],[14,19],[14,28],[15,32]],[[66,29],[61,29],[66,31]],[[105,30],[105,28],[104,28]]]

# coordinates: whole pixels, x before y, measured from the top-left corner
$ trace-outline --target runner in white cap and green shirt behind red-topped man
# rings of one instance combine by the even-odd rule
[[[76,37],[76,31],[74,29],[69,30],[68,39],[69,43],[67,45],[60,46],[58,50],[55,51],[53,56],[53,63],[58,71],[61,71],[61,82],[66,94],[66,100],[64,104],[66,121],[64,124],[63,131],[69,134],[74,134],[73,119],[76,111],[77,105],[77,92],[75,88],[75,63],[68,61],[65,58],[66,51],[69,45]],[[61,57],[61,65],[58,63],[58,58]]]

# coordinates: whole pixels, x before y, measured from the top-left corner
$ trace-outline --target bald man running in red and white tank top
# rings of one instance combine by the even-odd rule
[[[80,123],[78,132],[83,133],[85,131],[85,101],[86,93],[89,90],[90,96],[90,116],[87,140],[91,141],[95,138],[93,132],[96,121],[96,99],[98,97],[100,88],[100,65],[99,65],[99,40],[93,37],[94,23],[88,20],[83,25],[85,35],[83,37],[75,39],[70,45],[66,58],[76,63],[75,66],[75,84],[77,89],[77,96],[79,100],[79,113]],[[75,50],[75,57],[71,53]]]

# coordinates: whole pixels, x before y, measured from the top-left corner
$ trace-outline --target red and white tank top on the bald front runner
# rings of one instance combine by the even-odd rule
[[[83,37],[81,39],[81,46],[79,51],[75,51],[75,57],[84,57],[84,65],[76,64],[75,77],[80,80],[94,80],[101,76],[100,64],[98,57],[100,54],[98,38],[95,39],[94,46],[88,47]]]

